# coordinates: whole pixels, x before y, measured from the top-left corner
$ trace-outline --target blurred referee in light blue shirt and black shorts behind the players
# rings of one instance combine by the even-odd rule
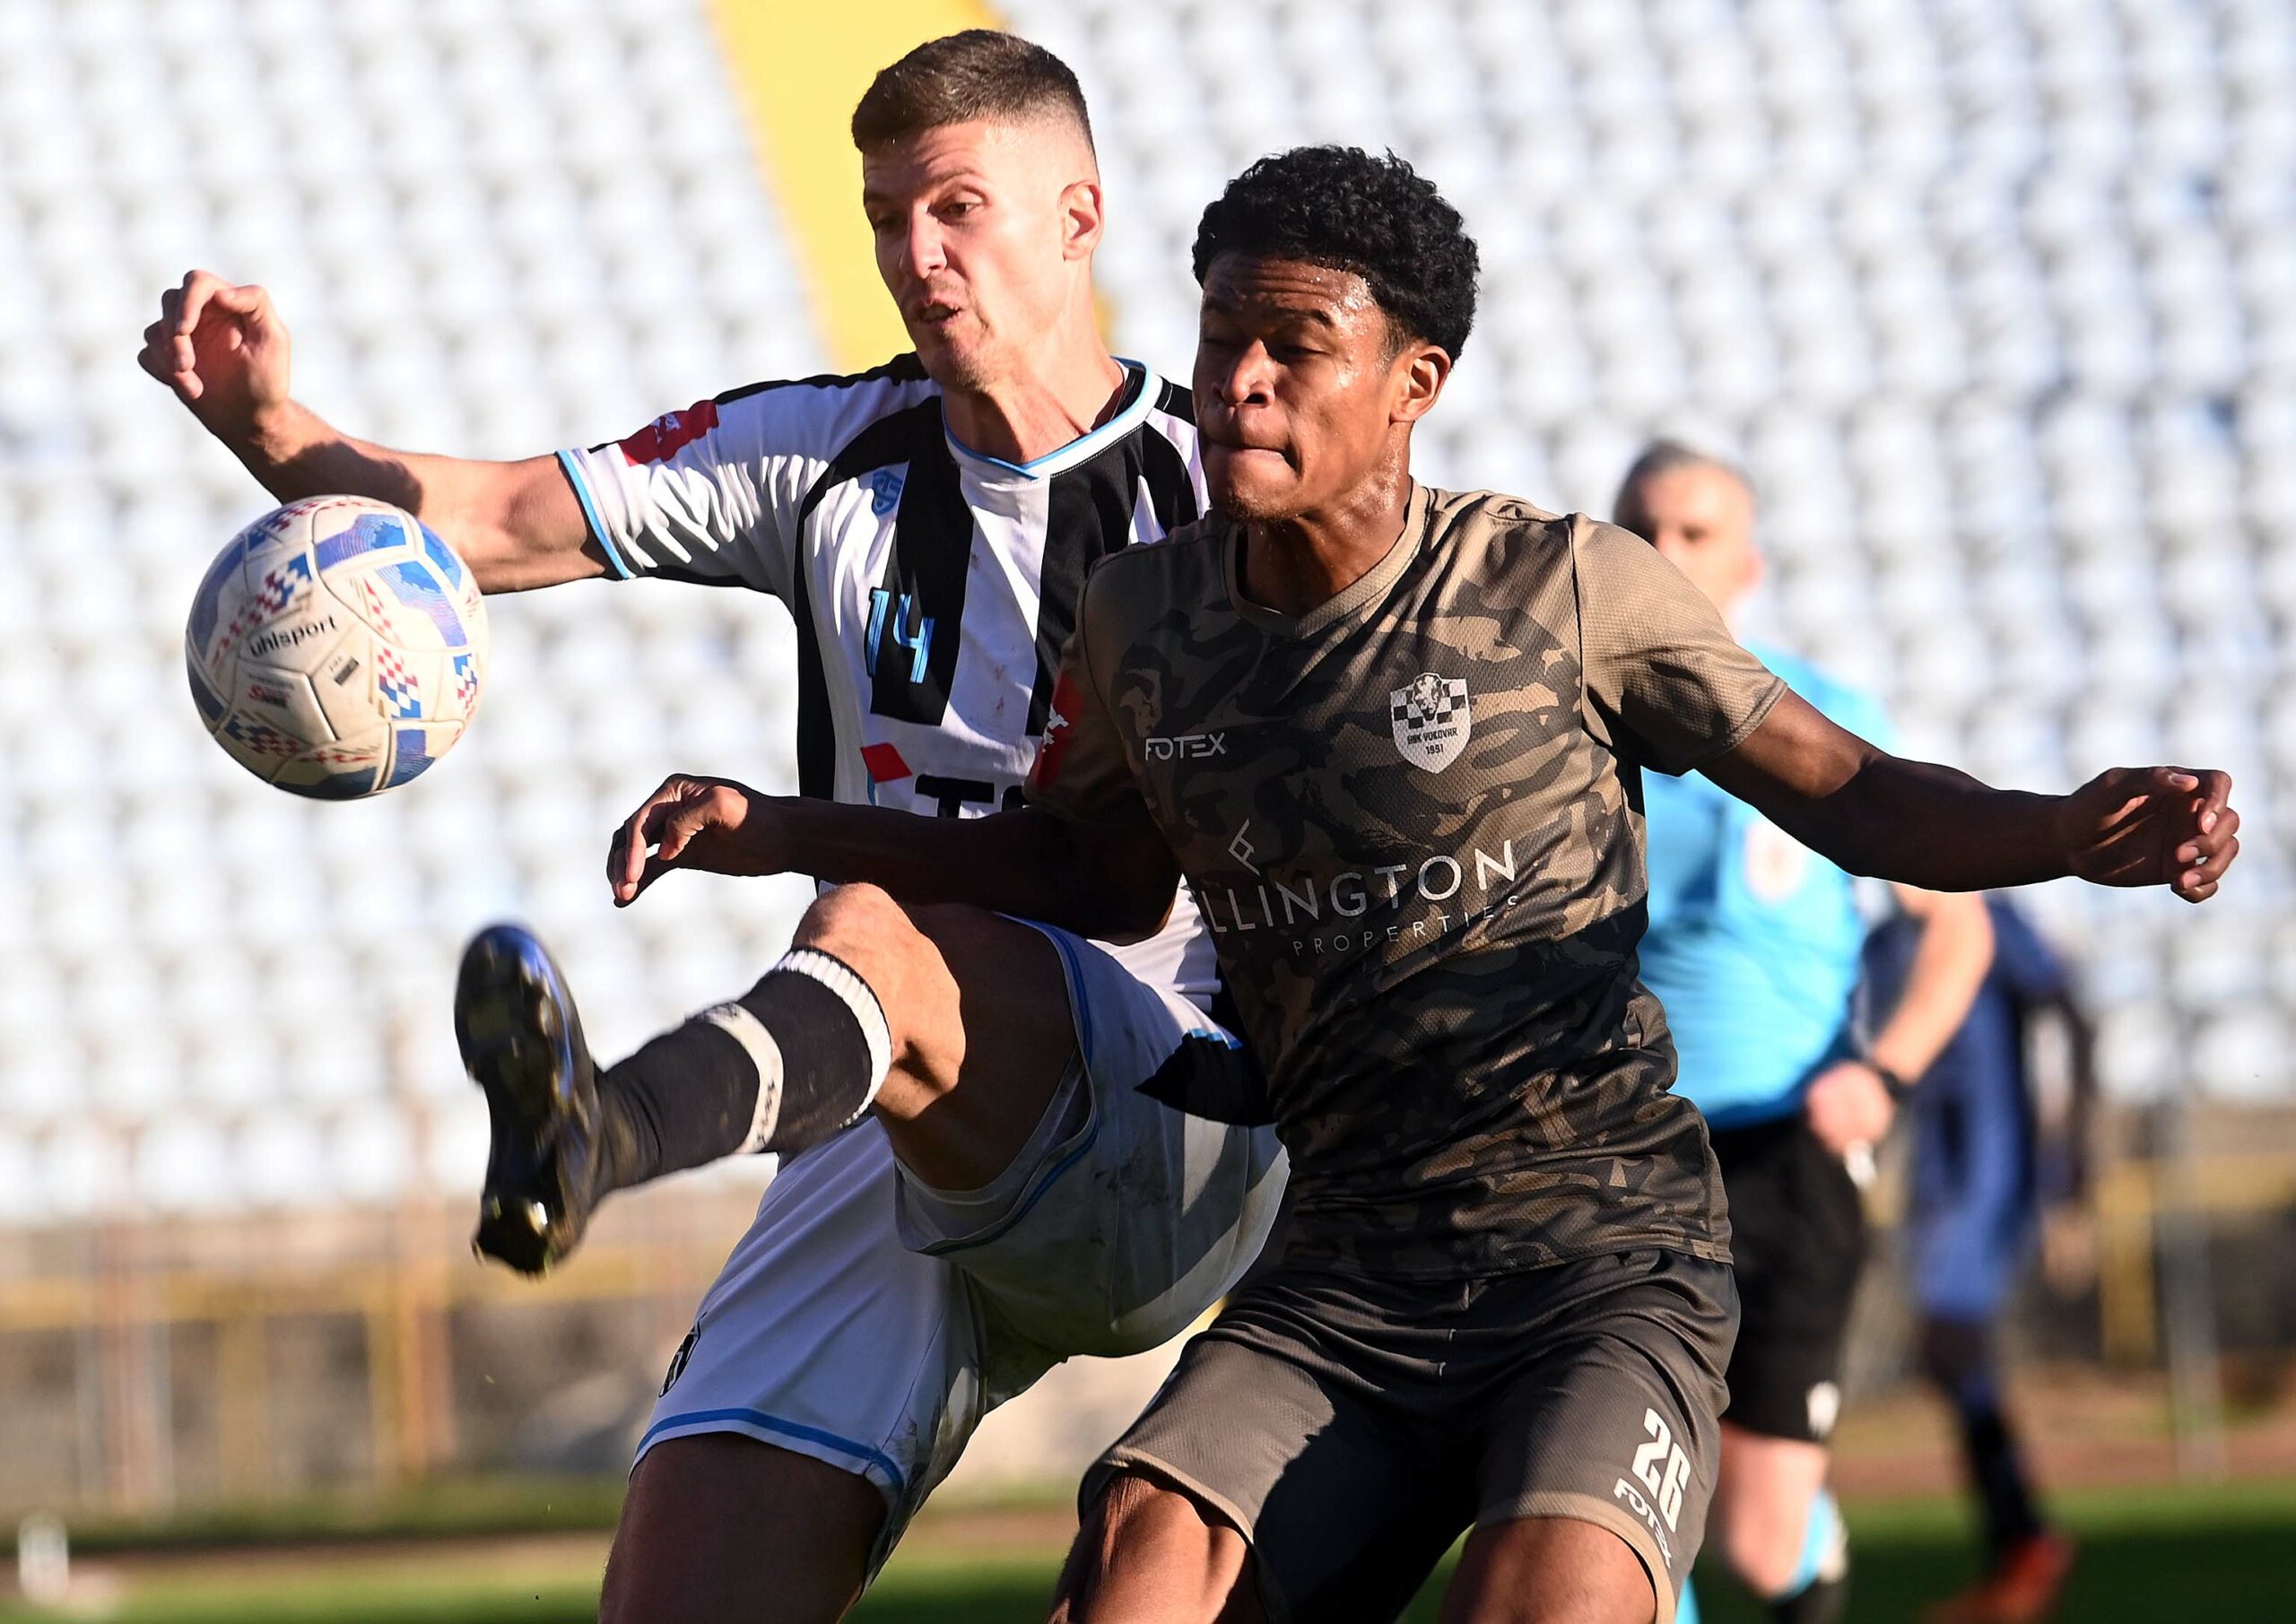
[[[1616,521],[1727,620],[1761,581],[1754,492],[1733,466],[1660,441],[1628,469]],[[1747,641],[1844,728],[1890,749],[1869,696]],[[1855,1165],[1871,1165],[1908,1080],[1952,1038],[1986,974],[1984,900],[1894,887],[1913,921],[1906,995],[1860,1043],[1867,921],[1848,873],[1704,776],[1644,779],[1651,928],[1642,981],[1706,1112],[1731,1208],[1740,1325],[1708,1548],[1779,1624],[1832,1624],[1848,1544],[1825,1491],[1841,1348],[1864,1256]]]

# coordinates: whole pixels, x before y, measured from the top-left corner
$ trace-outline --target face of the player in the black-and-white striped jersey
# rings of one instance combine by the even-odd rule
[[[918,361],[985,388],[1091,287],[1100,241],[1091,152],[1056,119],[944,124],[861,156],[861,209]],[[1081,294],[1079,294],[1081,289]]]

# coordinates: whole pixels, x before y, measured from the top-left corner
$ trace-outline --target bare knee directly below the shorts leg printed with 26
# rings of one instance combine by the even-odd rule
[[[1568,1516],[1486,1523],[1467,1534],[1442,1624],[1651,1624],[1658,1592],[1635,1548]]]

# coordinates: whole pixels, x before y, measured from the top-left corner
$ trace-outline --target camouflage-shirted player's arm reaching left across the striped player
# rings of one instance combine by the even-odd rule
[[[1148,827],[1070,822],[1040,806],[918,818],[689,774],[664,779],[606,850],[615,905],[634,903],[670,868],[868,882],[902,903],[969,903],[1104,942],[1155,935],[1180,880]]]

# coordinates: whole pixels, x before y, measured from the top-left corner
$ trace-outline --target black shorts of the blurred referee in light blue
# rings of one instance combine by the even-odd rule
[[[1841,1346],[1864,1263],[1857,1185],[1800,1112],[1713,1132],[1738,1268],[1731,1426],[1823,1443],[1841,1408]]]

